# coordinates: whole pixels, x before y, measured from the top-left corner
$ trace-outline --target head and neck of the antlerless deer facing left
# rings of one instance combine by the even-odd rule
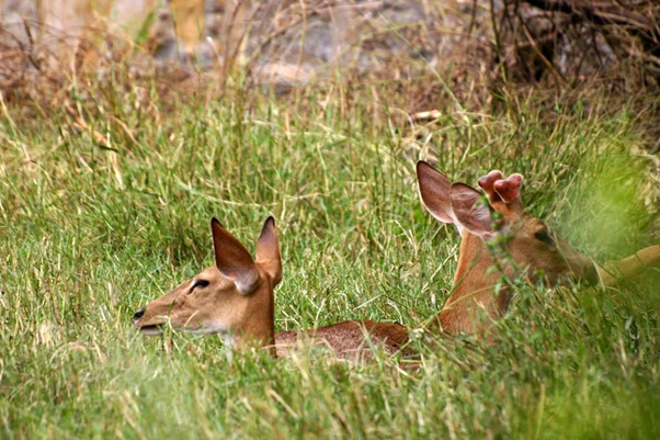
[[[282,280],[275,221],[269,217],[257,240],[257,260],[217,219],[212,219],[215,266],[166,293],[134,317],[146,335],[174,329],[230,334],[235,345],[274,351],[274,294]]]

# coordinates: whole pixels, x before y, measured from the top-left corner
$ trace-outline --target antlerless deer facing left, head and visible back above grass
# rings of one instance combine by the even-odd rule
[[[375,346],[388,353],[406,352],[408,331],[398,324],[348,320],[275,334],[274,289],[282,281],[282,258],[274,218],[261,229],[255,259],[216,218],[210,229],[215,264],[140,307],[133,320],[141,334],[161,335],[168,325],[193,334],[223,334],[228,358],[249,349],[284,357],[303,341],[349,360],[371,357]]]

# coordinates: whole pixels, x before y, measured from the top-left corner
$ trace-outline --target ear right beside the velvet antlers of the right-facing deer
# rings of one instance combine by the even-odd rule
[[[452,183],[451,199],[456,219],[467,230],[486,239],[493,236],[492,215],[488,202],[479,191],[468,184],[455,182]]]

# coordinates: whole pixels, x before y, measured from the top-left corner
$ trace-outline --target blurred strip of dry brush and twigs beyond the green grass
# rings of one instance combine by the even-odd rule
[[[129,58],[170,79],[207,72],[275,92],[329,78],[421,79],[413,112],[452,86],[479,105],[504,82],[648,90],[660,80],[653,0],[2,0],[0,90],[37,72]],[[57,68],[54,66],[57,65]],[[169,70],[168,70],[169,69]],[[175,72],[173,72],[175,70]],[[152,70],[150,70],[152,72]],[[437,81],[437,77],[443,81]],[[483,87],[481,87],[483,86]],[[486,92],[486,93],[483,93]]]

